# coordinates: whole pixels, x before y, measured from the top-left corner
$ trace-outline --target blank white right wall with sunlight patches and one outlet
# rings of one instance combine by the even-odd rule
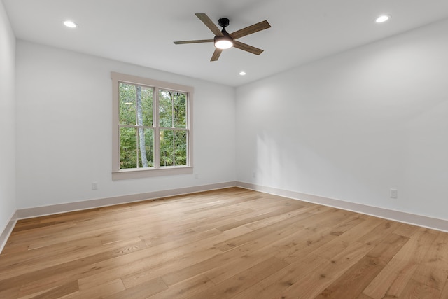
[[[237,181],[448,220],[447,31],[237,88]]]

